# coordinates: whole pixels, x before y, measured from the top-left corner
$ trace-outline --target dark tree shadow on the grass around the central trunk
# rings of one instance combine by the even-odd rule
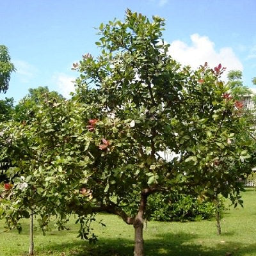
[[[158,238],[159,237],[159,238]],[[162,234],[155,239],[145,241],[145,255],[147,256],[243,256],[255,255],[256,243],[244,244],[226,242],[214,246],[204,246],[204,241],[190,243],[196,239],[196,235],[187,233]],[[190,242],[189,242],[190,241]],[[197,243],[197,244],[196,244]],[[96,244],[88,244],[86,241],[74,243],[49,244],[40,249],[41,252],[61,253],[65,248],[66,255],[74,256],[129,256],[133,255],[132,239],[100,239]],[[39,253],[39,252],[38,252]]]

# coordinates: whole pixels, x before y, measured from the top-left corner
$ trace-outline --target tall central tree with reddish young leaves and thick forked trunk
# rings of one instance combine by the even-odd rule
[[[101,54],[85,54],[74,99],[88,108],[94,141],[86,188],[92,211],[118,214],[134,227],[134,255],[143,253],[147,198],[163,191],[190,191],[199,198],[223,194],[241,203],[239,177],[255,162],[241,102],[221,81],[225,68],[180,65],[162,38],[164,20],[127,10],[125,21],[99,27]],[[161,152],[178,157],[166,161]],[[99,198],[97,198],[99,195]],[[97,199],[96,199],[97,198]],[[134,214],[122,205],[137,202]]]

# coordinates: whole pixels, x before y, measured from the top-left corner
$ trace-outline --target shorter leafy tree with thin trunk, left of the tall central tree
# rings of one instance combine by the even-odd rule
[[[76,111],[69,111],[69,108],[69,102],[46,93],[44,100],[40,100],[36,109],[34,108],[35,113],[29,115],[28,121],[10,120],[1,123],[0,140],[3,147],[0,156],[8,156],[11,160],[8,169],[2,170],[8,177],[8,183],[2,184],[0,191],[4,195],[0,203],[0,215],[6,217],[8,227],[17,227],[20,231],[20,218],[31,218],[33,214],[37,214],[39,225],[45,231],[49,217],[56,214],[57,204],[59,207],[63,205],[62,222],[58,221],[60,228],[63,228],[61,223],[69,212],[65,207],[72,200],[72,196],[70,200],[65,200],[70,197],[71,191],[74,192],[76,186],[80,187],[81,176],[77,177],[73,171],[81,172],[85,162],[83,154],[83,161],[76,156],[76,147],[84,148],[84,144],[76,136],[80,132],[78,126],[74,125]],[[68,122],[72,124],[67,126]],[[73,127],[74,131],[71,131]],[[74,140],[81,146],[77,146]],[[81,152],[83,150],[79,151]],[[74,159],[70,159],[68,154]],[[70,184],[72,181],[64,175],[67,170],[68,176],[74,177],[78,182],[76,186]],[[52,192],[62,186],[63,191],[58,192],[57,199]],[[67,195],[63,194],[65,189]],[[57,191],[54,194],[57,195]],[[12,207],[15,204],[17,206]],[[33,254],[33,247],[30,247],[29,252]]]

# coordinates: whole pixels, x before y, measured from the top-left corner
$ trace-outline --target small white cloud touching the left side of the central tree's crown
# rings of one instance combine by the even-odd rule
[[[74,81],[76,77],[67,76],[65,73],[56,73],[53,80],[65,98],[70,98],[70,92],[75,92]]]

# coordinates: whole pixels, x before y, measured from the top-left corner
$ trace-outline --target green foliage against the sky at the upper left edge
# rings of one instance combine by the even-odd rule
[[[0,45],[0,93],[6,93],[9,87],[10,76],[15,71],[15,67],[11,62],[8,48]]]

